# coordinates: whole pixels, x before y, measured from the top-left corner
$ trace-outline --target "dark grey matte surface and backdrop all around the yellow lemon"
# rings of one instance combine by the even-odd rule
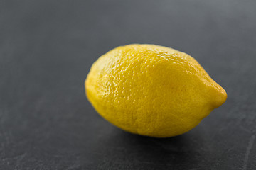
[[[84,80],[100,55],[153,43],[187,52],[228,100],[178,137],[97,115]],[[256,1],[0,1],[0,169],[256,169]]]

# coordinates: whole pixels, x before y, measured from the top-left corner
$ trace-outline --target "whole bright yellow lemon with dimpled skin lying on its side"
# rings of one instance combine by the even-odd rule
[[[85,91],[110,123],[150,137],[191,130],[227,98],[193,57],[159,45],[125,45],[102,55]]]

